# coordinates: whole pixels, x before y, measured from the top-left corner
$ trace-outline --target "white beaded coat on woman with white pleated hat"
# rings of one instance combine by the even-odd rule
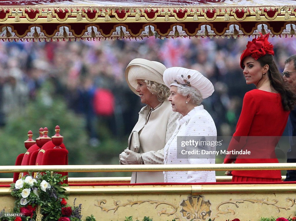
[[[185,157],[181,159],[177,157],[177,151],[181,151],[181,147],[177,149],[178,136],[204,136],[212,141],[217,139],[217,130],[213,118],[203,109],[203,105],[195,107],[184,117],[180,117],[177,121],[177,127],[170,140],[164,148],[164,164],[215,164],[215,158],[194,159],[193,157]],[[215,151],[216,147],[205,146],[206,150]],[[179,155],[180,156],[180,155]],[[208,155],[207,155],[208,156]],[[164,182],[168,183],[195,183],[195,182],[215,182],[215,171],[167,171],[163,172]]]

